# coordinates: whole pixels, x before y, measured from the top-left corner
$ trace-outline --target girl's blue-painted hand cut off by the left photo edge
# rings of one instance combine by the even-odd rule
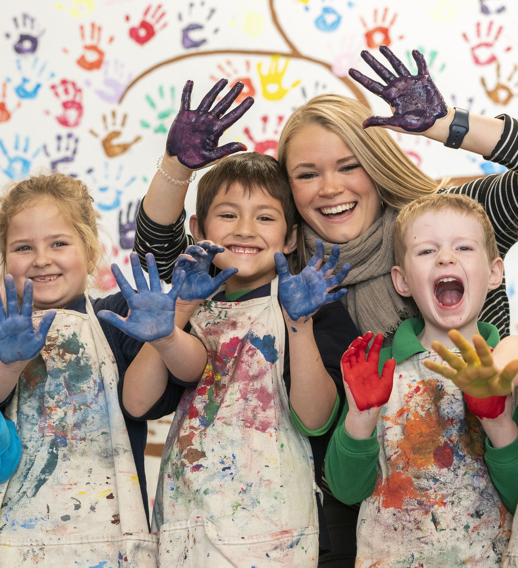
[[[0,301],[0,360],[5,365],[16,361],[30,361],[45,345],[56,310],[48,310],[35,331],[32,323],[32,281],[29,279],[25,281],[20,310],[18,310],[18,294],[14,278],[6,274],[3,282],[7,297],[7,315],[3,302]]]

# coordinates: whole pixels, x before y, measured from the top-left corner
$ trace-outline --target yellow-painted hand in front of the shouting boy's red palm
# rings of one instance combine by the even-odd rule
[[[481,335],[473,337],[475,349],[462,337],[457,329],[452,329],[448,337],[458,347],[462,358],[452,353],[438,341],[432,343],[435,350],[449,366],[425,361],[424,366],[431,371],[450,379],[467,395],[475,398],[506,396],[512,392],[512,379],[518,373],[518,359],[509,362],[499,373],[493,365],[491,352]]]

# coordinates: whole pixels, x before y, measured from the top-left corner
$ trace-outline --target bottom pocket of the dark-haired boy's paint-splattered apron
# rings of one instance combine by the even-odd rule
[[[160,566],[164,568],[243,568],[318,564],[318,526],[252,536],[221,536],[210,521],[197,519],[162,525]]]

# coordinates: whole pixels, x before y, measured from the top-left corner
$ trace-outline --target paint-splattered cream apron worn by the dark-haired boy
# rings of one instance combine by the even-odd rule
[[[207,300],[191,318],[208,364],[162,454],[152,531],[160,566],[316,566],[311,446],[290,418],[277,300]]]

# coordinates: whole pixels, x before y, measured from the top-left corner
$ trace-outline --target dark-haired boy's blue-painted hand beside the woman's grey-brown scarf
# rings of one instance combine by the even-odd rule
[[[276,252],[274,258],[279,274],[279,299],[293,321],[302,317],[307,318],[307,316],[316,312],[320,306],[329,302],[336,302],[347,293],[345,288],[333,294],[328,294],[328,290],[339,286],[344,281],[349,273],[350,264],[344,264],[339,273],[327,280],[325,279],[328,274],[332,274],[340,258],[339,245],[333,245],[328,262],[319,269],[324,260],[324,245],[318,239],[315,254],[306,268],[296,276],[290,274],[286,257],[281,252]]]

